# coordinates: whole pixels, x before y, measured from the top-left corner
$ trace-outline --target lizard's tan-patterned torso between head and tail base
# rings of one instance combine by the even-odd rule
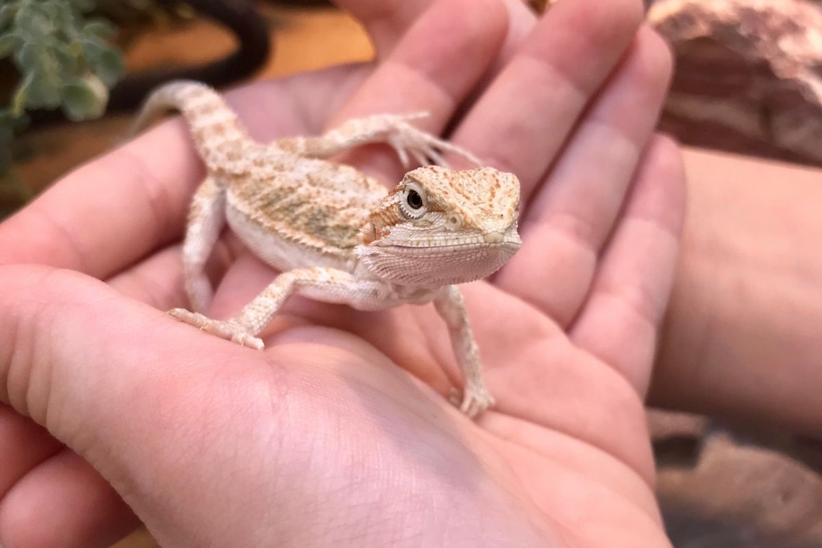
[[[353,248],[363,242],[363,224],[386,188],[349,165],[275,145],[244,155],[244,173],[223,174],[227,219],[242,241],[278,269],[353,270]]]

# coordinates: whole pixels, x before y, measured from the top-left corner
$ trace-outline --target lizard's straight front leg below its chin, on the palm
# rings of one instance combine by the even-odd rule
[[[473,338],[462,293],[456,286],[446,286],[434,299],[434,307],[448,325],[451,346],[454,348],[463,375],[464,387],[459,410],[469,417],[475,417],[490,408],[494,404],[494,398],[485,388],[479,351]]]

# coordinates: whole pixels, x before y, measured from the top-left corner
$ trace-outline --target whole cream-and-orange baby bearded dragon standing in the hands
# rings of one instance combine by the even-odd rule
[[[473,157],[411,126],[421,114],[381,114],[345,122],[322,136],[264,145],[209,87],[177,81],[155,90],[135,122],[167,108],[182,112],[207,175],[192,200],[182,248],[187,294],[195,311],[213,289],[204,266],[227,222],[266,263],[274,281],[229,320],[184,309],[171,315],[252,348],[256,336],[295,294],[379,310],[433,302],[449,329],[464,378],[459,408],[473,417],[493,403],[483,383],[477,344],[455,283],[483,278],[520,248],[520,182],[493,168],[452,171],[427,166],[386,191],[372,177],[331,156],[368,143],[387,143],[406,164],[437,150]],[[478,162],[477,162],[478,163]]]

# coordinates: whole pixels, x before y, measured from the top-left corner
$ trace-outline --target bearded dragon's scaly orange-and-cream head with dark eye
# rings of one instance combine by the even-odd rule
[[[522,245],[520,181],[494,168],[406,173],[371,212],[359,259],[401,285],[436,288],[496,272]]]

